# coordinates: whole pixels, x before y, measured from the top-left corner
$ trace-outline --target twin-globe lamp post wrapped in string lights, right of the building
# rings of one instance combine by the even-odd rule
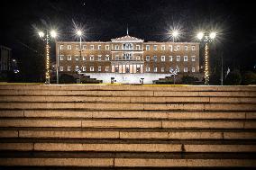
[[[209,85],[209,43],[215,40],[216,32],[198,32],[197,39],[205,43],[205,85]]]

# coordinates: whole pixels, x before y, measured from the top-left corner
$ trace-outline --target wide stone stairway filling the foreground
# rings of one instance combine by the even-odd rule
[[[256,86],[0,85],[0,166],[253,168]]]

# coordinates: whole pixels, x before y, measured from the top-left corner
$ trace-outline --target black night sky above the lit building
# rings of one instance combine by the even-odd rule
[[[29,67],[27,62],[36,62],[33,56],[43,54],[38,30],[54,28],[59,31],[59,40],[77,40],[76,23],[85,29],[83,40],[121,37],[127,25],[131,36],[146,41],[170,40],[171,27],[183,32],[178,41],[193,41],[199,29],[215,30],[218,39],[212,45],[211,58],[223,54],[224,67],[255,70],[256,19],[252,1],[4,0],[0,8],[0,44],[13,49],[14,58],[23,68]],[[53,42],[51,45],[54,48]]]

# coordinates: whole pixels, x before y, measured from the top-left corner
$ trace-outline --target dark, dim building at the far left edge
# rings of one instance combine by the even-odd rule
[[[12,49],[7,48],[5,46],[0,46],[0,71],[7,72],[11,71],[11,58],[12,58]]]

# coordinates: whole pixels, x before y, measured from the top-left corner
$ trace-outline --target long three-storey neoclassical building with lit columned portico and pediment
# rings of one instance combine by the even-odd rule
[[[130,36],[111,41],[57,41],[59,74],[90,76],[104,83],[151,84],[170,76],[199,73],[199,43],[144,41]],[[59,61],[59,62],[58,62]]]

